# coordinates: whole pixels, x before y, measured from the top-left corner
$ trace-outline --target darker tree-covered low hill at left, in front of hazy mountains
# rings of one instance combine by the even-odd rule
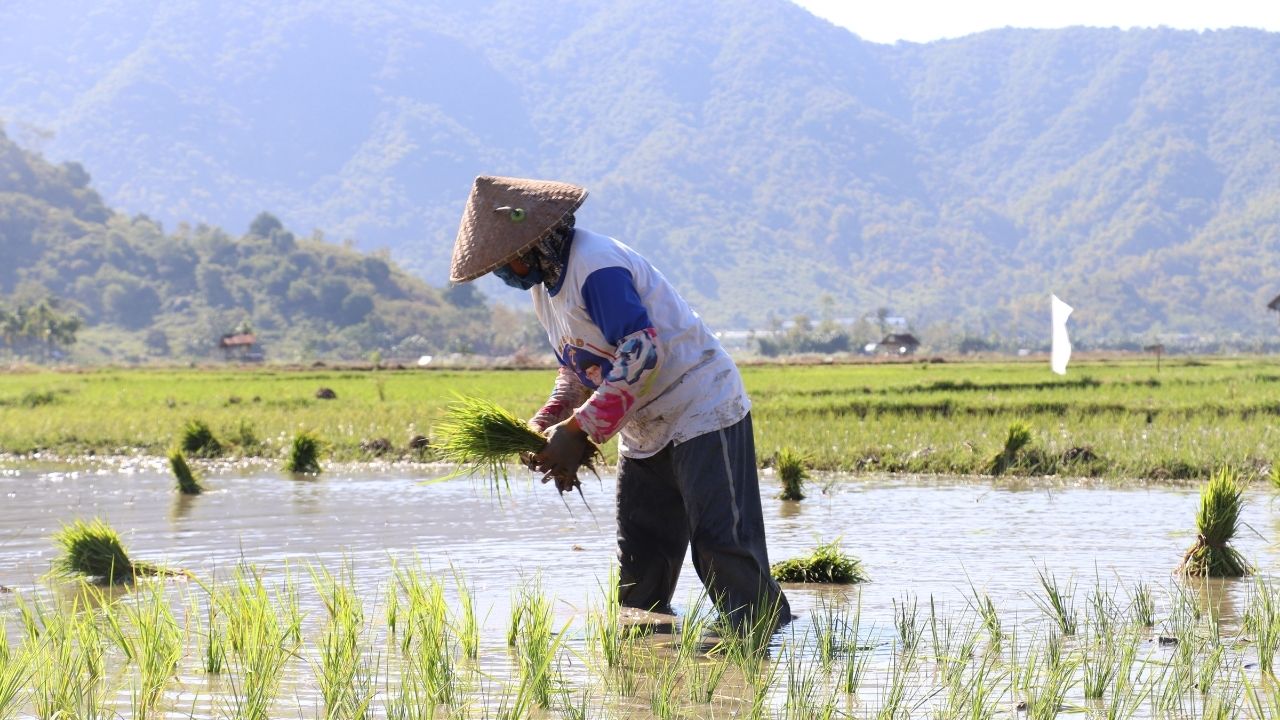
[[[46,337],[68,329],[83,334],[81,357],[116,360],[214,357],[236,331],[275,360],[512,352],[530,340],[527,323],[495,316],[470,288],[431,288],[269,213],[239,236],[113,213],[79,164],[52,165],[4,133],[0,259],[0,355],[72,350]]]

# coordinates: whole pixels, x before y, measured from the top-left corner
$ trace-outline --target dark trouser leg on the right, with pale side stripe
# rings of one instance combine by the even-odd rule
[[[694,568],[712,600],[739,629],[787,623],[791,607],[769,574],[751,415],[673,446],[671,457],[689,516]]]

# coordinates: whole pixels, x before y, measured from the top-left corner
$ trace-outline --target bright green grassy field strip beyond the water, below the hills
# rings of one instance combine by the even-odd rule
[[[772,365],[744,369],[765,462],[815,469],[1115,478],[1262,471],[1280,450],[1280,364],[1265,359]],[[430,459],[454,393],[529,415],[550,370],[102,369],[0,373],[0,452],[163,455],[202,420],[229,456],[280,457],[300,429],[338,460]],[[328,388],[332,400],[317,397]],[[996,464],[1010,427],[1027,445]],[[387,441],[387,442],[379,442]],[[389,447],[389,450],[388,450]],[[612,443],[608,451],[612,454]]]

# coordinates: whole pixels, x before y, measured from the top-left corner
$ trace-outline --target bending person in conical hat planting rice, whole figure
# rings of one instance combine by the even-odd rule
[[[618,436],[622,605],[671,614],[692,542],[694,568],[721,612],[740,630],[772,630],[791,612],[769,575],[742,378],[653,265],[573,227],[585,199],[561,182],[476,178],[449,279],[492,272],[532,295],[561,364],[530,420],[547,436],[532,459],[544,482],[568,489],[588,441]]]

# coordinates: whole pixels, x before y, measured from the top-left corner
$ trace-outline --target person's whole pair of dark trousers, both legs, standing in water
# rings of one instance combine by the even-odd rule
[[[787,598],[769,575],[750,414],[652,457],[618,464],[622,605],[671,612],[690,542],[699,579],[735,626],[791,619]]]

